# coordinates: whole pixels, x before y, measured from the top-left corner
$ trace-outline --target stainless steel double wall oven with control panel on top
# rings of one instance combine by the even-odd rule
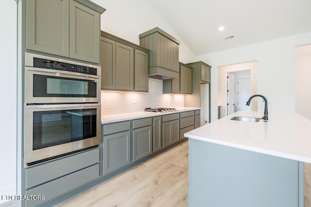
[[[25,53],[24,167],[101,143],[101,68]]]

